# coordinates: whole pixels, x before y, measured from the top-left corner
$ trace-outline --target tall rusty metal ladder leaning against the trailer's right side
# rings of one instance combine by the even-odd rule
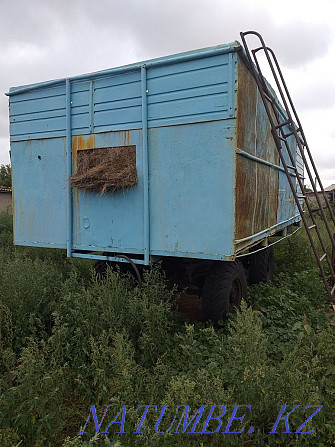
[[[277,58],[271,48],[265,45],[265,42],[262,36],[255,31],[247,31],[240,33],[242,38],[242,43],[244,46],[244,50],[247,56],[249,68],[256,80],[259,92],[261,94],[263,104],[269,118],[271,124],[272,135],[279,153],[280,160],[282,162],[283,168],[285,170],[285,174],[287,176],[287,180],[289,182],[290,188],[292,190],[295,203],[298,207],[303,225],[306,229],[307,236],[309,238],[312,250],[314,252],[317,264],[319,266],[321,277],[324,282],[327,295],[329,300],[334,303],[334,292],[335,292],[335,237],[332,232],[331,225],[335,225],[335,217],[334,211],[330,206],[327,194],[322,186],[322,182],[318,171],[316,169],[315,163],[313,161],[310,149],[308,147],[306,137],[301,126],[299,117],[293,105],[291,96],[286,86],[286,82],[282,75],[281,69],[279,67]],[[246,42],[247,35],[254,35],[258,38],[260,42],[260,46],[249,50],[248,44]],[[273,94],[270,92],[268,85],[264,76],[262,75],[259,61],[257,59],[257,53],[261,51],[269,64],[271,69],[273,78],[275,80],[278,92],[279,99],[281,100],[282,105],[284,106],[284,110],[286,116],[284,121],[280,120],[280,116],[278,113],[278,105],[275,102]],[[287,130],[289,129],[289,130]],[[304,167],[308,174],[309,182],[312,185],[312,189],[314,191],[316,200],[317,200],[317,208],[311,208],[307,197],[304,195],[304,177],[299,173],[295,161],[295,157],[292,154],[288,138],[295,137],[295,142],[297,144],[297,148],[300,151]],[[287,151],[290,164],[287,164],[284,156],[284,151]],[[300,187],[300,191],[302,191],[302,195],[296,191],[297,184],[292,180],[292,173],[295,174],[297,183]],[[315,178],[315,181],[314,181]],[[317,192],[316,181],[319,184],[321,193]],[[320,196],[321,195],[321,199]],[[302,201],[305,201],[307,212],[304,211]],[[325,235],[321,234],[320,231],[320,222],[316,219],[315,213],[319,212],[321,215],[321,223],[324,224],[326,232]],[[326,212],[329,214],[329,221],[326,216]],[[309,221],[310,220],[310,221]],[[327,253],[326,246],[331,245],[332,254]],[[321,248],[322,253],[319,253]],[[326,266],[328,266],[329,276],[327,278]],[[334,304],[333,304],[334,307]]]

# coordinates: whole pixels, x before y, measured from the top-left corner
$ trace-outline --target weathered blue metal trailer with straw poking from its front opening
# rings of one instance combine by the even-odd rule
[[[239,257],[256,250],[249,275],[266,279],[269,237],[299,226],[238,42],[7,94],[17,245],[66,249],[100,265],[161,259],[201,284],[205,318],[218,319],[246,293]],[[294,136],[288,141],[302,173]],[[71,186],[84,151],[115,148],[136,154],[136,186],[103,194]]]

